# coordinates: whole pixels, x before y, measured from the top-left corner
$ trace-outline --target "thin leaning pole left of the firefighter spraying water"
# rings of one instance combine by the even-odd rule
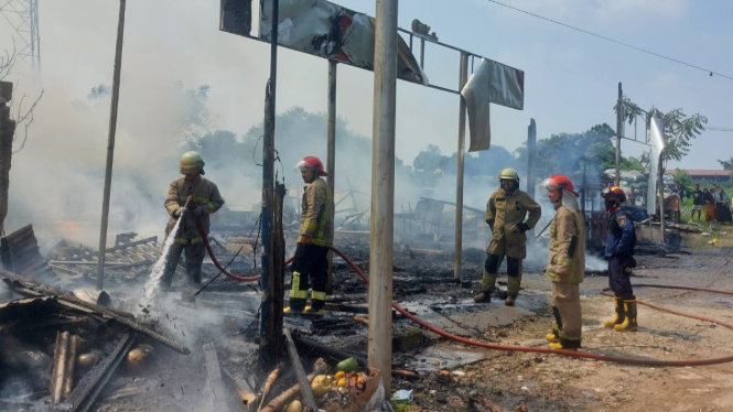
[[[112,104],[109,113],[109,137],[107,140],[107,169],[105,170],[105,192],[101,198],[101,228],[99,229],[99,256],[97,258],[97,290],[101,291],[105,280],[105,253],[107,251],[107,223],[109,221],[109,195],[112,188],[112,164],[115,162],[115,133],[117,132],[117,108],[120,99],[120,71],[122,68],[122,39],[125,37],[125,3],[120,0],[120,15],[117,22],[117,46],[115,48],[115,72],[112,74]]]

